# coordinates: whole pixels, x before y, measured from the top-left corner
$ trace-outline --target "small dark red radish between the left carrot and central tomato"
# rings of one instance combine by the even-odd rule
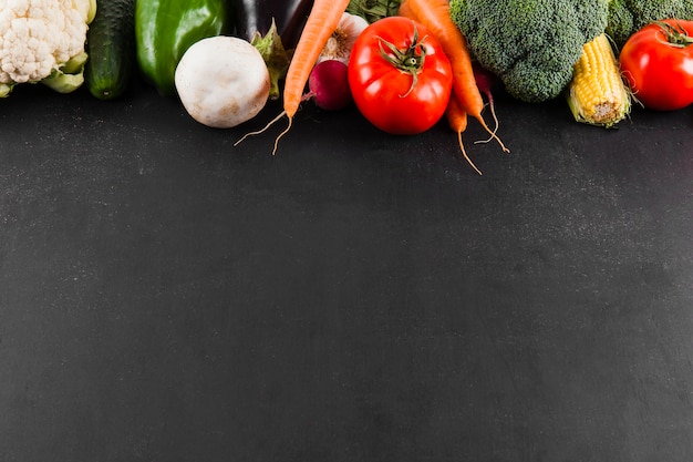
[[[308,78],[310,92],[303,99],[312,99],[325,111],[338,111],[351,104],[348,66],[338,60],[325,60],[314,65]]]

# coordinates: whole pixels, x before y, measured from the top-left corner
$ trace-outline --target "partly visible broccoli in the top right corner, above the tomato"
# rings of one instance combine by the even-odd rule
[[[637,31],[662,19],[693,20],[691,0],[610,0],[607,34],[621,48]]]

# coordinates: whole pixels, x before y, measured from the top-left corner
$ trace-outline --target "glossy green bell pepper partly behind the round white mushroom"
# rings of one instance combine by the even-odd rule
[[[139,70],[162,95],[173,95],[176,65],[188,47],[231,29],[225,0],[136,0],[135,40]]]

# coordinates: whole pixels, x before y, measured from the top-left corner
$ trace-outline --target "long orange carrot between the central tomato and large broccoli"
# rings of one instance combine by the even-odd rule
[[[406,0],[405,3],[405,11],[410,9],[414,18],[425,25],[443,45],[443,51],[453,66],[453,93],[464,111],[479,121],[482,126],[500,144],[503,151],[509,152],[484,121],[482,115],[484,99],[474,79],[472,55],[464,35],[449,16],[448,0]]]

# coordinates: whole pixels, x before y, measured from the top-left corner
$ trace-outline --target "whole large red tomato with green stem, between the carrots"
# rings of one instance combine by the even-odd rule
[[[445,113],[452,85],[453,71],[441,43],[411,19],[373,22],[351,50],[354,103],[384,132],[412,135],[431,129]]]

